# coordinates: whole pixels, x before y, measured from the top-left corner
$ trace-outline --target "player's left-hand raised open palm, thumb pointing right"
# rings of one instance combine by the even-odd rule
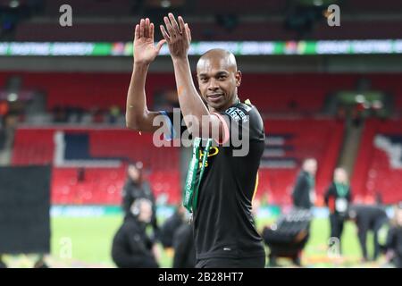
[[[165,40],[160,40],[157,45],[154,44],[154,23],[149,19],[141,19],[136,25],[133,54],[135,63],[151,63],[159,54]]]

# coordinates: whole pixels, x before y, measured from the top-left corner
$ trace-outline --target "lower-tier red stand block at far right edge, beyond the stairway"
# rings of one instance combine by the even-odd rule
[[[402,122],[365,122],[353,174],[357,200],[381,195],[386,204],[402,199]]]

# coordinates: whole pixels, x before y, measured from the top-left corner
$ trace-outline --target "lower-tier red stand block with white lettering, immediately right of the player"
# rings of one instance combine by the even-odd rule
[[[342,144],[343,122],[334,120],[267,120],[266,148],[260,169],[257,196],[268,195],[273,204],[289,205],[301,161],[318,161],[315,189],[318,203],[331,181]]]

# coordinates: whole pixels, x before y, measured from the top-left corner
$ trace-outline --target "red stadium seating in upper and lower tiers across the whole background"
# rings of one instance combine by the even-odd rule
[[[5,83],[10,72],[0,72],[0,82]],[[90,111],[95,107],[108,110],[118,105],[121,111],[125,110],[125,97],[130,75],[127,73],[50,73],[50,72],[21,72],[23,88],[41,89],[46,91],[46,108],[48,112],[58,106],[79,107]],[[339,150],[342,145],[344,126],[343,121],[334,119],[317,119],[322,114],[327,97],[336,89],[351,90],[355,88],[359,74],[260,74],[245,73],[240,90],[242,100],[249,98],[258,107],[262,114],[267,114],[265,131],[267,132],[266,153],[260,171],[260,181],[257,196],[268,195],[274,204],[289,204],[290,192],[297,176],[299,164],[303,158],[313,156],[319,163],[316,189],[321,202],[322,192],[331,181],[331,172],[337,164]],[[68,77],[69,81],[64,79]],[[402,89],[399,85],[398,74],[365,74],[371,80],[372,88],[384,90],[394,96],[395,109],[402,111]],[[99,84],[107,82],[108,84]],[[264,87],[263,87],[264,85]],[[160,89],[174,89],[172,74],[153,73],[147,80],[148,105],[152,106],[155,93]],[[297,124],[283,118],[283,114],[297,116]],[[282,114],[282,115],[281,115]],[[285,115],[286,116],[286,115]],[[288,115],[289,116],[289,115]],[[23,117],[21,117],[23,118]],[[286,117],[285,117],[286,118]],[[305,118],[300,120],[300,118]],[[27,122],[31,123],[31,122]],[[374,125],[373,125],[374,124]],[[379,123],[368,121],[361,142],[360,153],[354,172],[354,191],[356,198],[363,198],[367,191],[381,189],[386,201],[394,201],[393,187],[389,187],[392,180],[381,180],[383,172],[393,173],[389,168],[380,168],[379,164],[387,164],[383,151],[373,149],[367,142],[373,142]],[[385,124],[385,123],[382,123]],[[374,127],[373,127],[373,126]],[[382,125],[381,125],[382,126]],[[163,148],[153,147],[149,135],[139,136],[137,132],[118,128],[63,128],[51,127],[48,129],[19,128],[15,133],[13,147],[13,165],[21,164],[54,164],[55,143],[54,134],[57,130],[64,132],[64,140],[72,142],[78,140],[80,159],[102,160],[103,165],[92,165],[86,168],[86,173],[99,171],[113,171],[118,180],[109,180],[110,183],[90,181],[77,183],[80,168],[68,164],[54,165],[54,202],[80,202],[83,204],[115,204],[119,202],[120,189],[124,179],[124,164],[128,160],[141,160],[146,166],[152,166],[149,174],[152,186],[156,193],[165,194],[169,202],[180,199],[180,173],[171,172],[179,168],[179,150],[173,148],[164,152]],[[78,134],[82,136],[72,136]],[[69,137],[70,136],[70,137]],[[73,139],[74,138],[74,139]],[[108,142],[104,144],[104,142]],[[276,146],[272,142],[280,142]],[[84,146],[84,147],[82,147]],[[64,153],[65,160],[73,159],[68,150]],[[374,152],[375,151],[375,152]],[[381,153],[382,152],[382,153]],[[376,155],[377,161],[371,158]],[[77,156],[77,155],[76,155]],[[382,158],[382,159],[381,159]],[[108,161],[109,160],[109,161]],[[382,161],[381,161],[382,160]],[[385,160],[385,161],[384,161]],[[86,162],[87,162],[86,161]],[[108,165],[113,162],[119,165]],[[166,162],[170,163],[171,170],[166,169]],[[372,170],[373,169],[373,170]],[[383,171],[379,171],[379,170]],[[387,171],[384,171],[387,170]],[[87,172],[88,171],[88,172]],[[398,172],[395,171],[395,177]],[[373,175],[374,174],[374,175]],[[388,174],[387,174],[388,175]],[[364,185],[369,176],[376,176],[367,182],[369,189]],[[380,176],[380,177],[379,177]],[[392,175],[393,176],[393,175]],[[75,179],[74,179],[75,178]],[[107,179],[105,179],[107,181]],[[397,180],[397,179],[395,179]],[[66,181],[74,182],[65,183]],[[361,182],[360,184],[358,182]],[[89,189],[89,190],[88,190]],[[102,191],[100,189],[103,189]],[[89,196],[89,193],[94,194]],[[108,191],[109,190],[109,191]],[[96,194],[95,194],[96,193]],[[113,195],[114,194],[114,195]]]

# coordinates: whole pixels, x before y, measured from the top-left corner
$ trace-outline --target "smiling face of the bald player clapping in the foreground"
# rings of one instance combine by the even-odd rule
[[[206,105],[223,111],[233,103],[241,72],[225,58],[205,58],[197,64],[198,87]]]

